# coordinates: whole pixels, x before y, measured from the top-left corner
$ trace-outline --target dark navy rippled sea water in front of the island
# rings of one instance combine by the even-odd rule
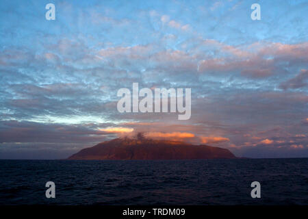
[[[0,205],[308,205],[308,159],[0,160]],[[55,183],[46,198],[45,183]],[[261,198],[251,198],[251,182]]]

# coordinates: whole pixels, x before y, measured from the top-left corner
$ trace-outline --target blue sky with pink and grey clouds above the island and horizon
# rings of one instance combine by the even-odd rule
[[[4,1],[0,159],[61,159],[140,131],[308,157],[307,11],[308,0]],[[190,119],[118,112],[133,83],[191,88]]]

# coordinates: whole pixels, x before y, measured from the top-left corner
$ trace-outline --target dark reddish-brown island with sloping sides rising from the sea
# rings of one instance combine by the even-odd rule
[[[67,159],[77,160],[151,160],[151,159],[232,159],[228,149],[172,140],[116,138],[82,149]]]

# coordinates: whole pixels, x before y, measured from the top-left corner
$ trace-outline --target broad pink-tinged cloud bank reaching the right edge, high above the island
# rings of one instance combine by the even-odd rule
[[[208,47],[209,42],[211,42],[211,47],[220,48],[220,51],[217,51],[218,57],[199,61],[199,73],[229,74],[230,72],[239,72],[244,77],[261,79],[278,73],[285,76],[288,74],[285,67],[289,66],[290,68],[290,66],[296,66],[298,63],[308,62],[307,42],[299,44],[264,42],[264,44],[254,43],[246,45],[246,47],[236,48],[211,40],[207,43],[203,42],[201,45]],[[230,53],[232,56],[224,53]],[[299,82],[303,80],[303,77],[306,77],[306,73],[302,74],[294,79],[297,86],[303,86],[303,83]]]

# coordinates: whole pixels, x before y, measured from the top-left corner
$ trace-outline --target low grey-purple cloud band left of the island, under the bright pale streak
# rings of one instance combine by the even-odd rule
[[[110,124],[106,124],[110,125]],[[0,121],[0,142],[91,144],[107,140],[96,125],[64,125],[16,120]]]

